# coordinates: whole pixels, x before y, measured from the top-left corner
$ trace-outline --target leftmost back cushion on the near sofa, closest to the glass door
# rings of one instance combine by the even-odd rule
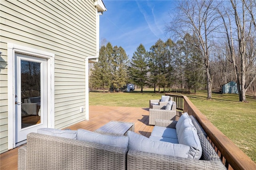
[[[39,128],[37,130],[40,134],[48,134],[51,136],[58,136],[62,138],[76,139],[77,131],[76,130],[60,130],[56,128]]]

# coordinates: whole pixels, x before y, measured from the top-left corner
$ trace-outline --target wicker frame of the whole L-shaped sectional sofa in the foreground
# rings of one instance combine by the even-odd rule
[[[18,170],[226,170],[198,121],[192,116],[190,118],[202,146],[202,156],[199,160],[130,149],[129,135],[128,148],[121,148],[30,133],[27,136],[27,144],[18,150]],[[177,121],[156,120],[156,126],[160,127],[175,128],[176,123]],[[135,140],[135,145],[138,143]],[[150,148],[146,146],[146,150]]]

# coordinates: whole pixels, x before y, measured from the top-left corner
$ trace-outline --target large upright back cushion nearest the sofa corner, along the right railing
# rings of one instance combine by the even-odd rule
[[[188,158],[200,159],[202,156],[202,146],[197,132],[194,128],[185,128],[178,137],[179,144],[190,146]]]

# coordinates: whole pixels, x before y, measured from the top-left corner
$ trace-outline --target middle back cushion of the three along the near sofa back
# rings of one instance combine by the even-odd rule
[[[84,129],[77,130],[77,140],[85,142],[94,142],[98,144],[107,144],[110,146],[116,146],[120,148],[128,148],[127,136],[113,136],[106,134],[98,134]]]

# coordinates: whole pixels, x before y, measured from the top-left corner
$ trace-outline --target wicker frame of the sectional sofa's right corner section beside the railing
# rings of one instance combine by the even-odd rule
[[[200,160],[129,150],[127,154],[127,170],[226,170],[220,157],[207,140],[206,133],[198,121],[194,117],[190,117],[197,129],[202,145],[202,157]],[[174,128],[176,121],[157,119],[156,125]]]

